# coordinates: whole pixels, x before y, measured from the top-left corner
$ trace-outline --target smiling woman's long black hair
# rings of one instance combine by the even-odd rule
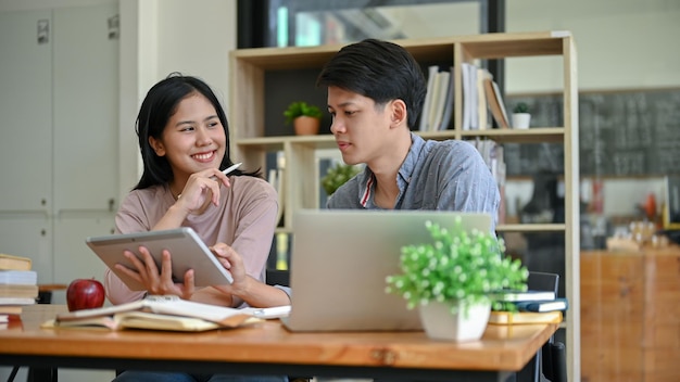
[[[225,130],[226,148],[225,155],[219,164],[219,169],[225,169],[234,164],[229,154],[229,125],[227,123],[227,116],[213,90],[207,84],[197,77],[172,73],[149,90],[139,109],[136,131],[144,169],[139,182],[134,188],[135,190],[146,189],[156,184],[165,184],[173,180],[173,169],[167,158],[156,155],[149,143],[149,137],[161,140],[165,125],[167,125],[169,118],[177,112],[179,102],[197,92],[201,93],[213,104]],[[236,176],[249,175],[262,177],[259,170],[245,173],[236,169],[231,174]]]

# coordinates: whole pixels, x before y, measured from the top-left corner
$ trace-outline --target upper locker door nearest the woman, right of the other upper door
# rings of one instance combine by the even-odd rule
[[[53,16],[54,209],[115,211],[118,39],[109,25],[117,7],[58,9]]]

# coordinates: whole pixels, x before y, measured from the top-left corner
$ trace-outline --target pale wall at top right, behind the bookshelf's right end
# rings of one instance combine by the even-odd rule
[[[572,33],[580,90],[680,86],[680,50],[672,48],[680,36],[680,1],[513,0],[506,15],[507,31]],[[540,64],[511,60],[506,68],[508,93],[559,88]]]

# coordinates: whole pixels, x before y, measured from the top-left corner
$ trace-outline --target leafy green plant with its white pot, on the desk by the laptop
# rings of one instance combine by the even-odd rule
[[[427,221],[432,239],[402,247],[401,273],[387,278],[387,292],[400,294],[410,309],[418,307],[428,336],[479,340],[491,308],[505,308],[492,298],[502,289],[527,290],[529,271],[504,255],[505,244],[491,232],[453,230]]]

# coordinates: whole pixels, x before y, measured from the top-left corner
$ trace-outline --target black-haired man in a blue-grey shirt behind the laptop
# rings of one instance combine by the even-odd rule
[[[475,147],[411,132],[426,81],[403,47],[376,39],[349,44],[324,66],[317,86],[328,88],[330,131],[343,161],[366,164],[328,208],[481,212],[495,230],[499,188]]]

